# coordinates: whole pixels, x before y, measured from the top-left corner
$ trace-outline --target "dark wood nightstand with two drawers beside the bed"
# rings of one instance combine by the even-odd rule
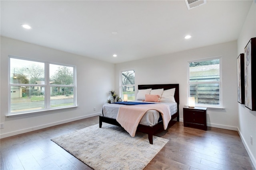
[[[207,130],[207,107],[183,107],[183,124],[185,127],[195,127]]]

